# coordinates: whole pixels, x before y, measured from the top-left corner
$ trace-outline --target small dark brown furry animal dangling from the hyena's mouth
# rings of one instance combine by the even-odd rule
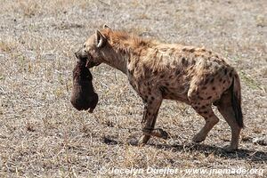
[[[70,102],[78,110],[87,110],[92,113],[98,102],[98,95],[93,90],[93,76],[85,67],[85,61],[78,61],[73,69],[73,88]]]

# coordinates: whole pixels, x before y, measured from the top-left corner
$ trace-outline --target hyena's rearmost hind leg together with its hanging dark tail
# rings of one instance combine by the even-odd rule
[[[226,149],[237,150],[239,147],[239,134],[244,126],[241,110],[240,81],[237,75],[233,77],[231,87],[226,93],[223,93],[216,105],[231,127],[231,145]]]

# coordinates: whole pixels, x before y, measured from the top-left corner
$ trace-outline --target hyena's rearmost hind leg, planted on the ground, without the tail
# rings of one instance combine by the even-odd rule
[[[231,127],[231,144],[225,147],[226,150],[237,150],[239,147],[239,134],[241,126],[236,121],[235,113],[231,103],[231,92],[224,93],[220,99],[214,103],[219,112],[223,115],[228,125]]]

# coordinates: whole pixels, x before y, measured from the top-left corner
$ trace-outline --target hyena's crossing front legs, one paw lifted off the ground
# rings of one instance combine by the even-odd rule
[[[167,133],[161,128],[154,128],[157,117],[158,109],[161,105],[162,98],[156,98],[154,96],[148,97],[147,101],[144,101],[144,112],[142,118],[142,138],[138,142],[139,145],[146,144],[150,140],[150,136],[157,136],[163,139],[167,138]]]

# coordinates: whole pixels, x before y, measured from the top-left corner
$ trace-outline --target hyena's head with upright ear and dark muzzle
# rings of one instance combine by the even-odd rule
[[[109,28],[104,25],[104,28]],[[87,68],[93,68],[104,61],[103,51],[107,44],[107,38],[102,35],[100,30],[96,30],[93,36],[90,36],[85,44],[75,53],[80,61],[86,61]]]

